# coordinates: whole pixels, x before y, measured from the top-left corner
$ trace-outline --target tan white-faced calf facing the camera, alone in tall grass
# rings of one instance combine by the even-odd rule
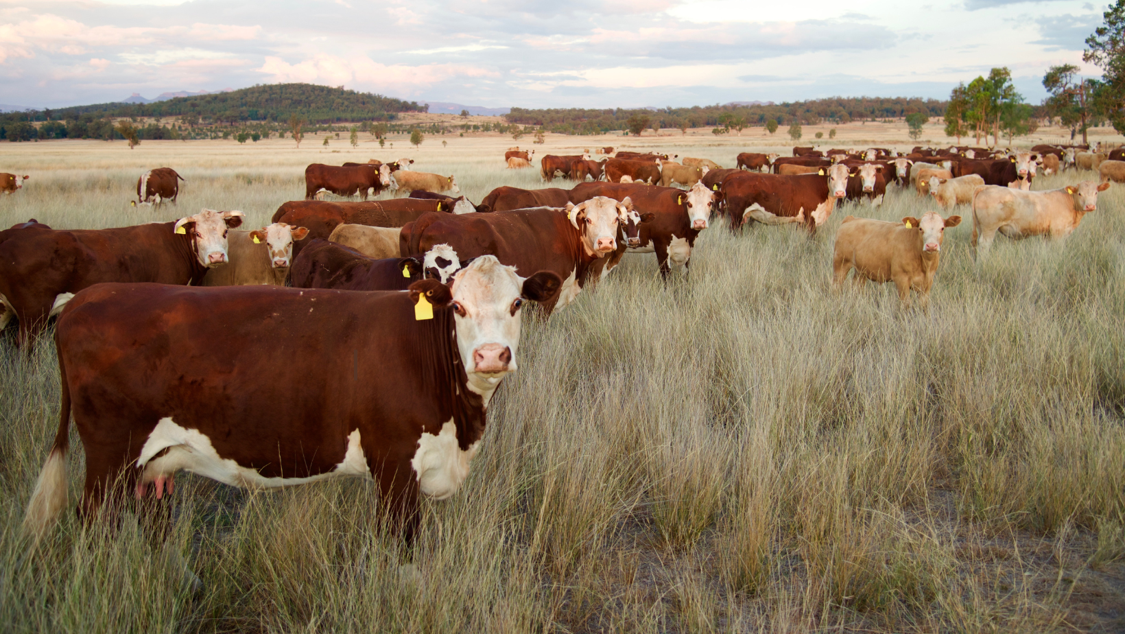
[[[935,212],[920,220],[907,216],[902,222],[847,216],[836,232],[832,282],[839,288],[854,268],[857,285],[868,279],[893,282],[903,305],[910,304],[914,289],[925,306],[940,261],[945,227],[958,224],[961,216],[943,220]]]

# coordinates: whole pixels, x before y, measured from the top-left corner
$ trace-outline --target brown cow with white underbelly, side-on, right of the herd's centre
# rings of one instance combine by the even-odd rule
[[[828,220],[836,202],[847,196],[847,166],[836,164],[799,176],[734,175],[723,180],[721,190],[734,232],[753,221],[803,223],[811,234]]]

